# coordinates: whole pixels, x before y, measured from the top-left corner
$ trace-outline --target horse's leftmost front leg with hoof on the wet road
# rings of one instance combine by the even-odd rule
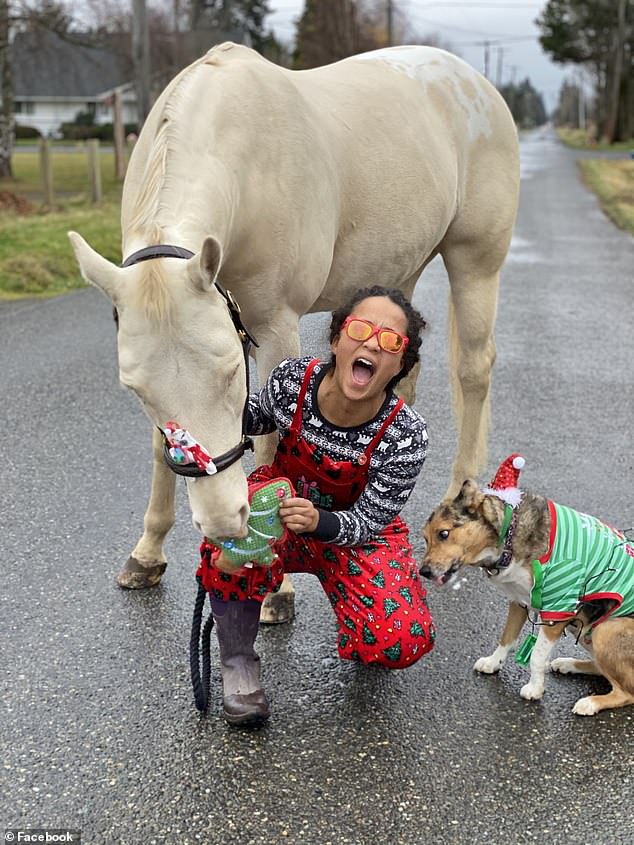
[[[120,587],[139,590],[155,587],[160,582],[167,566],[163,541],[175,519],[175,491],[176,476],[163,460],[163,438],[155,430],[152,435],[152,488],[143,518],[143,535],[117,577]]]

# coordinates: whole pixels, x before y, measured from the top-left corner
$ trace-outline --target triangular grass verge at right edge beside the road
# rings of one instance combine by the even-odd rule
[[[577,164],[605,214],[620,229],[634,235],[634,161],[586,158]]]

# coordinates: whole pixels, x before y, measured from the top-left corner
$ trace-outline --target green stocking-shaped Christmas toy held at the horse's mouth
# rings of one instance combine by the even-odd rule
[[[285,531],[279,516],[280,502],[294,495],[288,478],[273,478],[252,485],[249,488],[251,513],[247,522],[248,535],[217,540],[210,537],[210,542],[218,546],[223,558],[231,563],[269,566],[275,557],[271,546]]]

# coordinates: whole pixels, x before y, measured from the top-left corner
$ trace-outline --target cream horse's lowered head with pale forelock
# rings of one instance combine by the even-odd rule
[[[87,282],[118,314],[119,378],[162,430],[178,421],[212,456],[242,440],[246,401],[243,346],[214,282],[220,245],[207,238],[190,259],[163,257],[117,267],[77,233],[69,238]],[[247,484],[239,460],[215,475],[187,479],[195,527],[212,536],[244,533]]]

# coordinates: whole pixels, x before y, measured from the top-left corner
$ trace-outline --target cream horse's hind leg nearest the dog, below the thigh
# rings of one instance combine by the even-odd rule
[[[493,257],[498,253],[500,260]],[[500,266],[504,255],[481,242],[443,250],[449,274],[450,374],[458,422],[458,449],[448,496],[466,478],[476,478],[486,461],[491,368],[495,361],[494,327]]]

